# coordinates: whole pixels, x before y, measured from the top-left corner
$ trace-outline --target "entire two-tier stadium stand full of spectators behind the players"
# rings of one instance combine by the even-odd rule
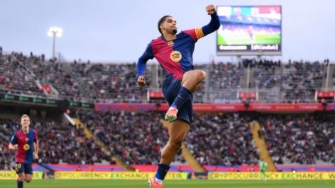
[[[247,62],[247,63],[246,63]],[[326,86],[334,90],[334,66],[329,61],[244,61],[243,64],[219,62],[199,64],[196,69],[207,71],[207,81],[194,94],[196,103],[241,103],[238,92],[251,90],[258,93],[257,102],[318,102],[315,91]],[[136,64],[92,64],[60,63],[55,59],[33,53],[24,55],[11,52],[0,53],[0,94],[34,96],[46,99],[64,100],[59,109],[65,112],[68,102],[151,102],[147,90],[157,90],[163,78],[163,71],[155,64],[147,69],[158,70],[158,74],[146,71],[148,86],[138,88],[136,84]],[[158,77],[157,77],[158,76]],[[1,105],[7,104],[0,101]],[[330,102],[334,102],[331,100]],[[160,103],[156,104],[157,109]],[[327,104],[326,104],[327,105]],[[20,107],[30,107],[17,102]],[[93,104],[94,107],[94,104]],[[6,117],[6,110],[0,112],[0,169],[9,170],[13,165],[13,153],[7,144],[14,131],[19,129],[18,119]],[[45,107],[48,110],[49,106]],[[7,110],[10,111],[10,110]],[[15,111],[15,110],[14,110]],[[137,165],[158,164],[160,150],[167,141],[166,127],[163,127],[164,111],[155,110],[108,110],[97,111],[82,108],[70,109],[70,116],[77,117],[92,131],[93,136],[105,144],[109,152],[119,156],[134,169]],[[206,111],[206,110],[204,110]],[[21,111],[20,111],[21,112]],[[52,113],[50,113],[52,114]],[[20,114],[17,114],[19,117]],[[48,114],[49,115],[49,114]],[[47,116],[48,116],[47,115]],[[40,134],[40,160],[43,167],[72,169],[89,164],[107,165],[108,170],[115,161],[106,155],[95,143],[87,138],[82,127],[75,127],[64,119],[39,118],[32,115],[32,128]],[[334,109],[327,112],[297,112],[287,114],[276,112],[196,112],[194,122],[185,144],[193,157],[208,171],[226,171],[242,166],[249,169],[258,163],[256,147],[249,123],[258,121],[272,160],[280,165],[331,165],[334,164]],[[53,165],[51,165],[53,164]],[[55,166],[54,166],[55,165]],[[172,170],[180,170],[187,160],[178,153]],[[297,167],[295,167],[297,169]],[[143,167],[143,170],[145,167]],[[280,168],[278,168],[280,169]],[[286,168],[281,168],[285,170]],[[322,169],[322,168],[319,168]],[[121,170],[114,166],[114,170]],[[185,167],[185,171],[192,168]]]

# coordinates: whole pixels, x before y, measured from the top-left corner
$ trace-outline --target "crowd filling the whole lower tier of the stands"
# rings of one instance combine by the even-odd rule
[[[94,137],[126,164],[156,165],[167,142],[163,112],[111,112],[77,110]],[[256,148],[249,122],[260,123],[260,135],[275,164],[334,163],[334,114],[195,113],[185,145],[201,165],[257,165]],[[0,168],[9,169],[14,152],[7,145],[20,125],[0,120]],[[53,121],[33,121],[38,131],[39,163],[115,163],[88,139],[81,127]],[[185,164],[177,153],[174,164]]]

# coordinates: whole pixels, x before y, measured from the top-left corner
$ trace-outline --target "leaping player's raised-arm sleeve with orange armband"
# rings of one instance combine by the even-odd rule
[[[185,30],[183,31],[184,33],[187,33],[192,37],[194,41],[198,40],[199,38],[202,38],[209,33],[213,33],[220,27],[220,21],[219,21],[219,16],[217,13],[213,13],[211,15],[211,21],[207,24],[204,25],[202,28],[195,28],[195,29],[190,29],[190,30]]]

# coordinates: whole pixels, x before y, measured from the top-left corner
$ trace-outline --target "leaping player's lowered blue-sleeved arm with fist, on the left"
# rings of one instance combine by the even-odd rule
[[[151,43],[145,49],[145,52],[138,59],[137,63],[137,83],[139,86],[145,86],[145,78],[143,76],[146,62],[149,59],[153,59],[153,48],[151,47]]]

